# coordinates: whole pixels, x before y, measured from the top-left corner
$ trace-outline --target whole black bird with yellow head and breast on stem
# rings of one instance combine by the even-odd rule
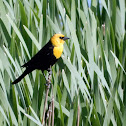
[[[63,34],[54,34],[49,42],[38,51],[27,63],[21,67],[25,67],[25,71],[12,82],[12,84],[17,84],[21,81],[27,74],[34,70],[41,70],[42,73],[45,70],[49,70],[57,60],[61,57],[64,48],[65,40],[68,40]]]

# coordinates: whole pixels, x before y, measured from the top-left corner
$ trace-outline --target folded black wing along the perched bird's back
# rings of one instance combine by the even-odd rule
[[[53,54],[53,45],[49,41],[31,60],[22,65],[22,67],[36,67],[39,63],[42,63],[45,59],[48,59]],[[41,64],[42,65],[42,64]]]

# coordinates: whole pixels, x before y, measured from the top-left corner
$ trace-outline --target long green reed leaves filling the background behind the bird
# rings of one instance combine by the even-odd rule
[[[70,37],[53,66],[54,125],[126,124],[125,0],[0,0],[0,126],[41,125],[41,71],[11,82],[54,33]],[[46,73],[47,75],[47,73]],[[52,93],[53,92],[53,93]]]

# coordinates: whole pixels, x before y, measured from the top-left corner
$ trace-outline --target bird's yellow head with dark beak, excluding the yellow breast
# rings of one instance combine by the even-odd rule
[[[51,42],[54,47],[62,46],[65,42],[65,40],[69,39],[68,37],[65,37],[63,34],[55,34],[51,37]]]

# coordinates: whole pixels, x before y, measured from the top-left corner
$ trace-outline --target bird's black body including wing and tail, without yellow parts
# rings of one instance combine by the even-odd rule
[[[53,66],[57,61],[56,57],[53,55],[53,48],[54,46],[51,41],[49,41],[35,56],[31,58],[31,60],[22,66],[26,67],[26,70],[12,84],[18,83],[22,78],[35,69],[43,72],[44,70],[48,70],[50,66]]]

